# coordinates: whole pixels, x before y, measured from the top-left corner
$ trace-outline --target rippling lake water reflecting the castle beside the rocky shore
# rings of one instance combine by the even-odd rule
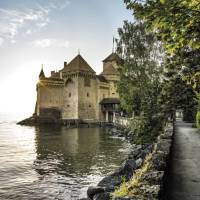
[[[0,199],[70,200],[86,197],[119,167],[130,144],[103,128],[16,125],[0,115]]]

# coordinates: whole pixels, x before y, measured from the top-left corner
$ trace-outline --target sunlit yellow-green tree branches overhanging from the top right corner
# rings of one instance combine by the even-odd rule
[[[199,0],[124,0],[136,19],[153,31],[174,61],[174,68],[185,68],[184,78],[195,85],[200,75]],[[174,59],[175,58],[175,59]],[[187,72],[187,73],[186,73]]]

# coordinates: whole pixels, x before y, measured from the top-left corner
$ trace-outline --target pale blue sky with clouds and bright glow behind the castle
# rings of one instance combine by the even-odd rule
[[[0,112],[31,115],[46,76],[80,51],[99,74],[123,21],[123,0],[0,0]]]

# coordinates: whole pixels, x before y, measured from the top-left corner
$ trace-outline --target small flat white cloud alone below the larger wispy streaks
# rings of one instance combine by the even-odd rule
[[[48,47],[68,48],[69,47],[69,41],[49,39],[49,38],[35,40],[32,42],[32,44],[34,47],[37,47],[37,48],[48,48]]]

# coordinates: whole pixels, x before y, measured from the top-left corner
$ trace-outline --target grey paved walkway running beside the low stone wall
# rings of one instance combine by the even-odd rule
[[[164,200],[200,200],[200,131],[176,122]]]

